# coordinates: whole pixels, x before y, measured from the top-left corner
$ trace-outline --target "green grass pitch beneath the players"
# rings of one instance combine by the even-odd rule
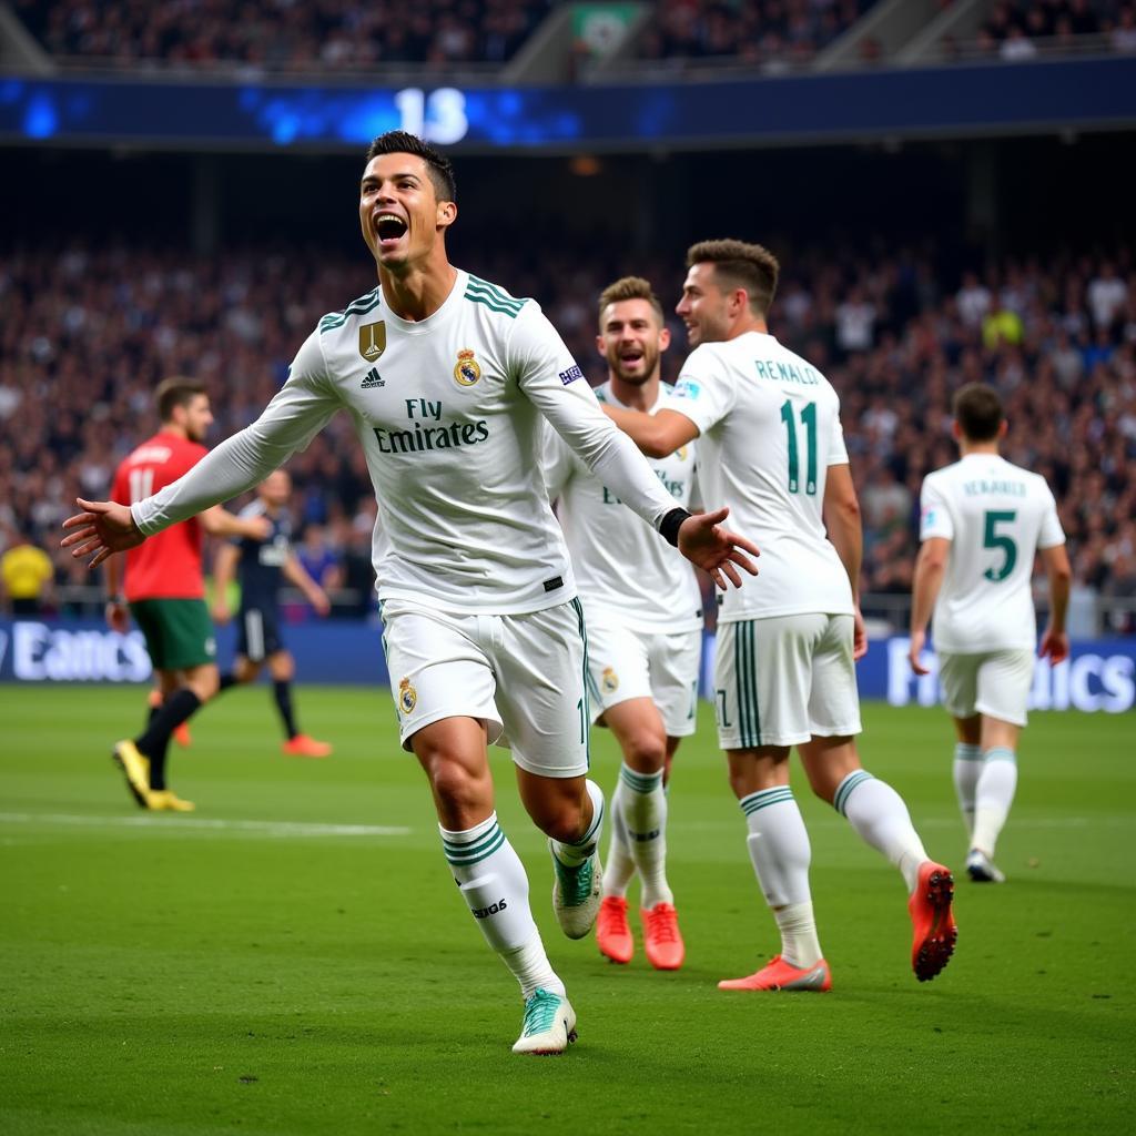
[[[960,882],[959,951],[930,984],[909,970],[899,877],[797,780],[825,996],[715,988],[777,944],[705,708],[670,797],[677,974],[560,936],[495,751],[501,820],[579,1013],[566,1056],[523,1059],[512,979],[456,894],[389,696],[308,688],[299,708],[333,759],[283,758],[268,693],[233,692],[174,751],[199,811],[149,817],[108,757],[140,691],[0,688],[0,1133],[1130,1130],[1130,715],[1034,717],[1010,883]],[[946,718],[867,707],[866,726],[866,766],[961,867]],[[610,791],[603,732],[594,767]]]

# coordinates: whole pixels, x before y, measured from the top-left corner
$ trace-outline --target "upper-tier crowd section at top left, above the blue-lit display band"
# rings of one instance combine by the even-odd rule
[[[12,0],[53,56],[261,70],[500,64],[554,0]]]

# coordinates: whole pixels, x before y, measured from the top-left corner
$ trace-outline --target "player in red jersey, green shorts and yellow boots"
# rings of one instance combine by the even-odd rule
[[[161,429],[130,453],[115,473],[111,498],[124,506],[149,498],[177,481],[209,451],[201,444],[212,424],[209,395],[189,378],[167,378],[157,391]],[[125,633],[128,616],[142,629],[158,678],[159,705],[152,705],[147,728],[115,745],[115,761],[126,786],[143,809],[190,812],[168,786],[169,738],[216,693],[217,643],[201,578],[203,534],[258,537],[267,533],[259,518],[242,519],[219,506],[173,525],[149,544],[126,553],[125,593],[119,592],[120,565],[107,561],[107,623]],[[130,604],[127,613],[126,604]]]

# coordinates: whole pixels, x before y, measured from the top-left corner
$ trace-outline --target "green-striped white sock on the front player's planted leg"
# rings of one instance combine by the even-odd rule
[[[528,907],[525,866],[490,813],[473,828],[454,833],[438,826],[442,849],[461,896],[482,928],[485,941],[520,983],[523,997],[537,987],[565,993]]]

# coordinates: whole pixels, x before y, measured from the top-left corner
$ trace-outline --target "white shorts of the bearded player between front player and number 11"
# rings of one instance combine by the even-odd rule
[[[607,608],[588,610],[592,720],[629,699],[651,699],[669,737],[693,734],[698,725],[702,632],[653,634],[628,627]]]

